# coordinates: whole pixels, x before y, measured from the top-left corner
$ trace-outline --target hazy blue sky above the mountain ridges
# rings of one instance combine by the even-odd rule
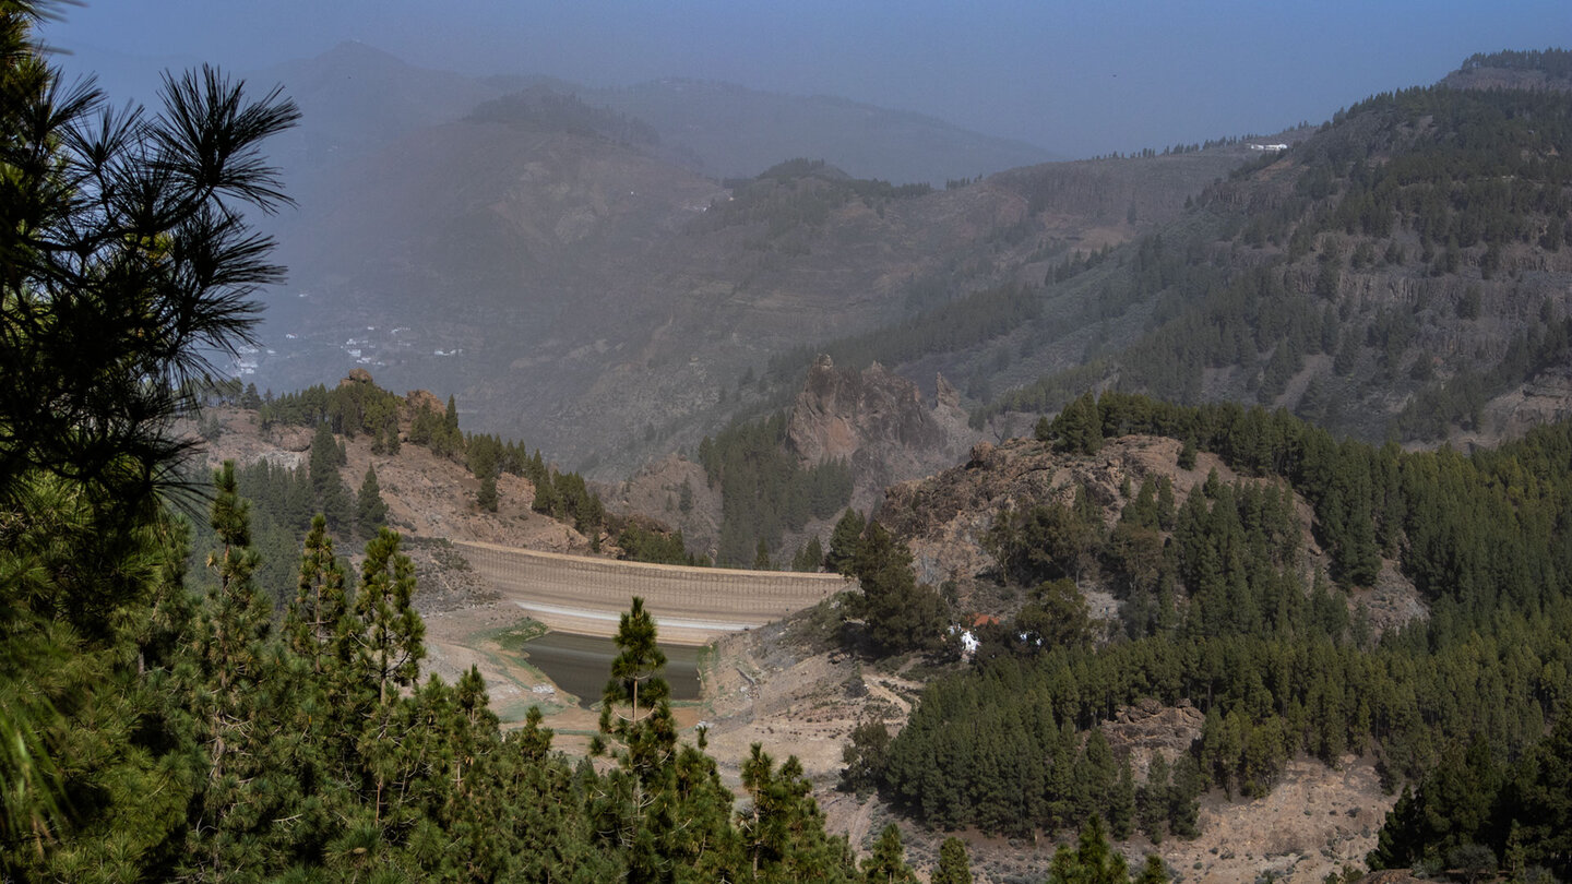
[[[468,74],[838,94],[1067,156],[1320,123],[1473,52],[1572,47],[1569,0],[91,0],[64,13],[46,36],[82,58],[245,72],[360,39]]]

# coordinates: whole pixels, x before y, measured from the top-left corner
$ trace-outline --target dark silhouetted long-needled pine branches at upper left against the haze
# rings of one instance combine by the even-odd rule
[[[50,64],[33,28],[53,13],[0,11],[0,500],[47,473],[135,513],[178,483],[173,418],[281,278],[242,209],[289,201],[258,149],[300,112],[212,68],[167,77],[159,113],[110,107]]]

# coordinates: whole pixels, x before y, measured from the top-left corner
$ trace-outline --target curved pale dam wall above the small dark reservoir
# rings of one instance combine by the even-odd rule
[[[703,645],[847,587],[839,574],[646,565],[494,543],[453,544],[505,599],[552,629],[582,635],[615,635],[630,599],[641,596],[663,642]]]

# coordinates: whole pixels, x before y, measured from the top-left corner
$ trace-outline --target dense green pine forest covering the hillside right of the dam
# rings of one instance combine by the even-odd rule
[[[931,683],[894,739],[882,725],[854,735],[849,785],[945,829],[1053,832],[1099,813],[1116,838],[1157,842],[1196,834],[1204,790],[1262,796],[1295,755],[1336,764],[1353,752],[1390,788],[1420,783],[1376,867],[1440,867],[1467,848],[1572,871],[1572,425],[1473,456],[1121,393],[1041,425],[1044,445],[1080,455],[1130,433],[1190,440],[1181,456],[1214,451],[1243,478],[1214,472],[1179,505],[1146,481],[1111,529],[1085,489],[1071,505],[1001,511],[990,546],[1025,607],[981,631],[973,665]],[[1295,494],[1330,573],[1306,579]],[[1383,560],[1429,617],[1377,635],[1347,591]],[[1124,601],[1107,639],[1077,591],[1088,580]],[[1148,697],[1193,703],[1206,724],[1176,763],[1138,777],[1096,727]]]

